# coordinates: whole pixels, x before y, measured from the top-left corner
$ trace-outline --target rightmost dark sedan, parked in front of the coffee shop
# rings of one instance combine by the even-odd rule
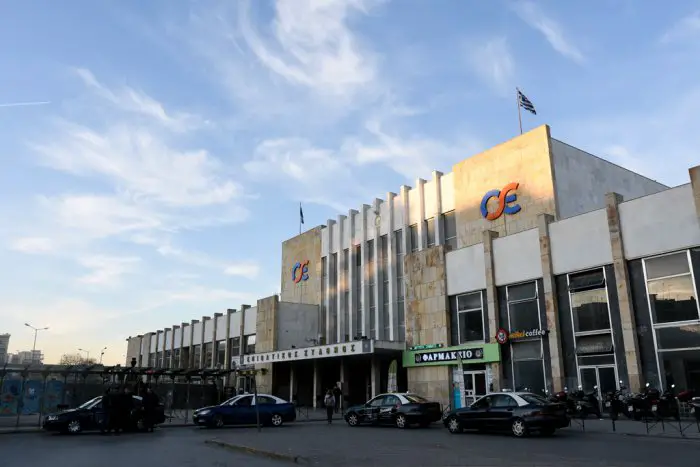
[[[528,392],[501,392],[448,412],[443,422],[450,433],[510,431],[514,436],[523,437],[533,431],[551,435],[558,428],[569,426],[570,420],[565,404]]]

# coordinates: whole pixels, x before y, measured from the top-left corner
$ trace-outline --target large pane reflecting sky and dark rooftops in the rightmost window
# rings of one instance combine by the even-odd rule
[[[698,319],[698,303],[690,274],[649,281],[647,288],[654,323]]]

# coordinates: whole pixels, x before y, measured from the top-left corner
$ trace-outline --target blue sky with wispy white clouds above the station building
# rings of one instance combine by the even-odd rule
[[[669,185],[700,2],[0,4],[0,332],[49,360],[279,291],[281,242],[518,131]],[[7,106],[50,101],[46,105]]]

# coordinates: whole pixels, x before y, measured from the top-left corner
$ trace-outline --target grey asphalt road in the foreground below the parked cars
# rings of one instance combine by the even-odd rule
[[[451,435],[440,425],[398,430],[350,428],[344,423],[297,423],[264,428],[261,433],[255,428],[180,428],[121,436],[5,435],[0,436],[0,465],[285,465],[204,443],[213,438],[301,456],[308,464],[318,466],[697,467],[700,463],[698,440],[584,433],[574,429],[561,430],[549,438],[514,439],[505,435]]]

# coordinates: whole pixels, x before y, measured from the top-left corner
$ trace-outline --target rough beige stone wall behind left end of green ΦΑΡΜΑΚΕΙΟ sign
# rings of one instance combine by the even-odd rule
[[[436,246],[406,256],[406,344],[443,344],[450,338],[445,253]],[[450,367],[409,368],[409,391],[449,404]]]

